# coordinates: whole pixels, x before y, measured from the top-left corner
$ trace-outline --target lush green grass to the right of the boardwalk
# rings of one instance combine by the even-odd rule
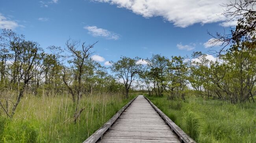
[[[256,143],[256,103],[147,97],[198,143]]]

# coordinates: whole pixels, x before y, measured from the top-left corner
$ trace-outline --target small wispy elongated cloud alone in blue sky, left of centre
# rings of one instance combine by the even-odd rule
[[[106,39],[118,40],[120,38],[119,34],[113,33],[106,29],[98,28],[96,26],[85,26],[84,29],[88,30],[88,33],[94,37],[104,37]]]

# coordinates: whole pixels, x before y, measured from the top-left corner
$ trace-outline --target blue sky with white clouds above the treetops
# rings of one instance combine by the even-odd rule
[[[228,0],[229,1],[229,0]],[[227,1],[227,2],[228,2]],[[102,65],[120,56],[190,56],[235,21],[219,15],[225,0],[1,0],[0,29],[24,34],[41,47],[65,48],[67,39],[99,41]],[[219,47],[212,47],[218,49]],[[103,59],[104,58],[104,59]]]

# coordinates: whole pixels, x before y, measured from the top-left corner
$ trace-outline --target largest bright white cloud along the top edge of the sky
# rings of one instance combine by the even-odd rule
[[[226,21],[221,4],[230,0],[94,0],[126,8],[145,18],[161,16],[178,27]],[[233,1],[233,0],[231,0]]]

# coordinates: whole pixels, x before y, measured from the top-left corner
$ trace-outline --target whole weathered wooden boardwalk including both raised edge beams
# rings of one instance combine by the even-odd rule
[[[130,101],[83,143],[96,141],[97,143],[196,143],[144,96],[137,96],[135,100]]]

